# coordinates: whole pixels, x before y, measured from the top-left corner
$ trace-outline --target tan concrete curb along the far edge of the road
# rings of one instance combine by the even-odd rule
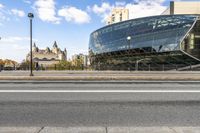
[[[0,80],[151,80],[200,81],[200,76],[0,76]]]

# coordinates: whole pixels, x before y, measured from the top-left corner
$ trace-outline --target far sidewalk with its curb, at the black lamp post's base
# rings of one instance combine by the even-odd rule
[[[123,72],[123,71],[37,71],[30,77],[28,71],[0,72],[0,80],[152,80],[200,81],[200,72]]]

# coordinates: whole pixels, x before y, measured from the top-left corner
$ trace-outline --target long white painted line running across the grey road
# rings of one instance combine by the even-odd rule
[[[0,90],[0,93],[200,93],[200,90]]]

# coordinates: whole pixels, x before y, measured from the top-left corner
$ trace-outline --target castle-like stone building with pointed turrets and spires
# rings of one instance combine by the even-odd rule
[[[30,60],[30,54],[27,55],[27,60]],[[61,60],[67,60],[67,50],[62,51],[55,41],[52,49],[39,49],[36,44],[33,45],[33,62],[38,65],[49,66],[57,64]]]

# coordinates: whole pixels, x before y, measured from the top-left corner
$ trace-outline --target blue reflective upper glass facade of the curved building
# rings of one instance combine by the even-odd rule
[[[154,16],[109,25],[91,34],[89,51],[93,54],[123,51],[129,45],[131,49],[150,48],[152,52],[176,51],[196,18],[194,15]],[[131,36],[130,42],[127,36]]]

